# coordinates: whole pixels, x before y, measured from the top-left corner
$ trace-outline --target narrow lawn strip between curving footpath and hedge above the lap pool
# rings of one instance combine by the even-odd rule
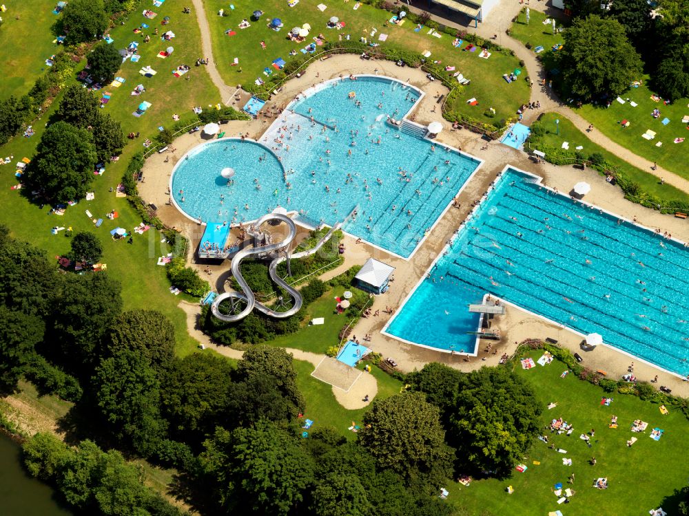
[[[559,120],[559,134],[556,133],[555,119]],[[637,167],[630,165],[628,162],[617,158],[615,154],[589,140],[585,133],[579,131],[572,122],[561,114],[546,113],[541,118],[541,122],[547,131],[542,140],[547,145],[560,149],[562,142],[569,142],[570,150],[581,145],[584,147],[582,152],[587,158],[592,153],[604,155],[608,162],[619,165],[626,175],[637,182],[641,186],[641,190],[657,195],[661,199],[689,202],[689,193],[669,184],[660,184],[657,176],[637,169]]]

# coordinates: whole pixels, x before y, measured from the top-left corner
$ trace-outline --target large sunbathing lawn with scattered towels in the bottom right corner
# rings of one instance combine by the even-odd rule
[[[532,352],[534,361],[542,352]],[[524,370],[516,363],[517,374],[531,383],[544,407],[542,424],[564,418],[574,425],[575,431],[567,437],[564,433],[550,433],[548,444],[536,441],[524,464],[525,473],[515,471],[509,480],[482,480],[464,487],[457,482],[446,485],[450,495],[448,502],[462,506],[469,514],[489,510],[493,514],[546,515],[549,511],[562,510],[565,515],[598,516],[601,514],[642,515],[648,510],[663,506],[668,514],[676,513],[674,504],[666,499],[675,489],[686,485],[686,442],[689,439],[689,422],[679,411],[661,415],[658,405],[641,401],[636,396],[613,394],[609,407],[601,406],[603,389],[579,380],[573,374],[560,378],[566,369],[559,361],[535,369]],[[557,407],[546,409],[548,403],[557,402]],[[616,415],[619,427],[608,428],[610,417]],[[633,433],[630,427],[634,420],[648,422],[643,433]],[[649,438],[654,427],[665,430],[659,442]],[[591,439],[592,448],[579,439],[581,433],[595,429]],[[632,437],[638,440],[628,448],[626,441]],[[557,453],[549,444],[566,449]],[[588,461],[595,456],[597,464]],[[572,466],[564,466],[563,458],[573,460]],[[533,461],[540,464],[533,464]],[[575,473],[575,484],[567,484],[568,477]],[[608,477],[608,489],[592,487],[597,477]],[[553,486],[563,486],[576,491],[570,504],[558,506]],[[512,495],[506,493],[507,486],[513,486]]]

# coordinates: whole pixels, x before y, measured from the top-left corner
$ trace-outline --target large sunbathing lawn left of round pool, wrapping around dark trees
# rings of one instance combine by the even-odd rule
[[[166,43],[152,36],[150,43],[142,42],[139,45],[141,61],[139,63],[127,61],[119,72],[119,76],[126,78],[127,82],[118,89],[110,86],[103,89],[112,92],[110,103],[106,105],[104,111],[122,122],[125,134],[141,131],[141,138],[134,141],[127,140],[127,147],[119,162],[108,164],[105,174],[96,178],[94,201],[82,200],[77,206],[68,208],[67,213],[62,217],[46,216],[49,210],[47,206],[39,210],[38,206],[30,204],[18,191],[10,190],[10,186],[17,183],[12,173],[6,170],[6,173],[0,177],[0,203],[5,207],[0,211],[0,224],[8,225],[16,237],[44,248],[49,257],[68,252],[70,249],[69,240],[65,239],[64,233],[59,233],[59,235],[50,233],[50,228],[53,226],[72,226],[75,231],[94,231],[103,242],[103,263],[107,264],[110,275],[122,283],[125,310],[154,308],[168,316],[175,325],[177,351],[181,355],[196,350],[197,343],[187,333],[184,312],[176,306],[182,296],[175,297],[169,293],[169,281],[165,277],[165,268],[156,266],[158,256],[167,252],[167,249],[161,244],[160,235],[153,230],[149,230],[143,236],[134,235],[133,245],[127,245],[124,241],[113,241],[110,238],[112,228],[119,225],[131,230],[141,222],[141,219],[132,211],[127,200],[116,198],[109,190],[119,184],[130,157],[143,149],[141,145],[144,137],[155,136],[159,125],[173,124],[172,114],[178,113],[184,118],[191,115],[192,106],[201,105],[207,109],[209,104],[215,104],[220,100],[217,89],[211,83],[205,69],[193,67],[194,61],[201,54],[200,33],[196,17],[182,14],[184,6],[183,0],[167,0],[163,7],[156,8],[158,17],[153,21],[147,21],[150,25],[149,31],[152,32],[158,27],[161,29],[159,30],[161,34],[165,32],[160,21],[164,16],[169,15],[171,21],[167,29],[175,32],[176,38],[172,40],[172,43]],[[50,16],[53,15],[50,14]],[[112,44],[123,48],[131,41],[142,41],[143,34],[134,34],[133,30],[144,20],[141,11],[132,13],[125,25],[119,25],[112,30],[111,35],[115,40]],[[156,58],[156,54],[170,44],[174,46],[174,54],[165,60]],[[187,74],[190,80],[172,76],[172,69],[181,63],[192,65],[192,71]],[[158,74],[152,78],[139,75],[138,70],[145,65],[152,66]],[[146,92],[141,96],[130,96],[132,89],[139,83],[145,85]],[[101,92],[96,94],[100,96]],[[143,100],[153,105],[144,116],[135,118],[132,112]],[[58,103],[54,103],[49,114],[56,109]],[[45,120],[47,120],[46,116],[34,124],[36,135],[32,138],[21,138],[21,136],[14,138],[0,148],[0,154],[3,157],[14,155],[14,162],[21,160],[23,156],[31,158],[41,138]],[[118,211],[120,217],[116,219],[116,222],[105,219],[103,226],[94,228],[84,213],[86,209],[90,210],[94,216],[103,217],[103,219],[105,219],[105,213],[114,209]]]

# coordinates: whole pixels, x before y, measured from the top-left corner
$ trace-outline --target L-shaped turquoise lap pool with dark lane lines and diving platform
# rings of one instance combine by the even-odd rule
[[[490,293],[686,375],[688,272],[683,244],[618,224],[510,169],[386,331],[460,351],[473,342],[466,332],[476,330],[476,314],[466,305]]]

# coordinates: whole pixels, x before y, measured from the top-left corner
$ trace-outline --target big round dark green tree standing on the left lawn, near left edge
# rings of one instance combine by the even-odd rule
[[[67,122],[55,122],[45,129],[24,180],[48,199],[65,203],[86,195],[95,164],[92,134]]]

